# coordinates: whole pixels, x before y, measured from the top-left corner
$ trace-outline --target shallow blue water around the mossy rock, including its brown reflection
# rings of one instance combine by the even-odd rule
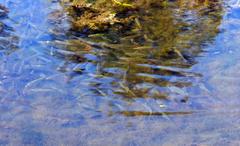
[[[100,48],[72,36],[67,16],[54,17],[58,2],[0,3],[10,11],[0,34],[1,145],[239,144],[239,8],[201,21],[197,11],[159,15],[159,32],[144,28],[157,43]]]

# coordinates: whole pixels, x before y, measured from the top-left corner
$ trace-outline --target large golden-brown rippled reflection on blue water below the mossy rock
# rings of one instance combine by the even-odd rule
[[[69,82],[91,75],[87,85],[94,95],[90,96],[120,99],[113,104],[115,112],[129,107],[129,111],[138,110],[151,98],[169,108],[176,104],[173,110],[179,110],[176,106],[189,99],[188,88],[202,76],[189,69],[197,63],[195,57],[214,41],[222,15],[219,2],[167,2],[165,7],[140,11],[136,27],[120,36],[110,31],[48,44],[55,47],[56,56],[66,60],[61,71],[76,64],[70,69]],[[145,106],[145,110],[152,108]]]

